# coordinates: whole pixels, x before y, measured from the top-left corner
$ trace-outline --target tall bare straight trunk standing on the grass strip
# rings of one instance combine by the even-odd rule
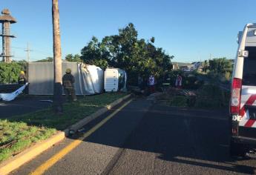
[[[53,1],[53,62],[54,62],[54,91],[53,110],[62,113],[62,48],[59,31],[59,1]]]

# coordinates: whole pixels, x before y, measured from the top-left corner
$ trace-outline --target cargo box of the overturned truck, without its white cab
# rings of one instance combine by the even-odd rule
[[[102,93],[104,73],[100,67],[76,62],[62,62],[62,76],[70,68],[75,78],[76,95]],[[28,64],[30,95],[53,95],[53,62],[31,62]]]

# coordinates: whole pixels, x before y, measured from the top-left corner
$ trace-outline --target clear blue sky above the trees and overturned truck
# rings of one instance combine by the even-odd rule
[[[80,53],[92,36],[118,33],[134,23],[139,38],[155,37],[157,47],[175,56],[174,62],[213,57],[234,58],[237,32],[256,22],[255,0],[60,0],[62,56]],[[30,43],[31,59],[52,56],[50,0],[1,0],[18,23],[12,25],[16,60],[26,59],[22,47]]]

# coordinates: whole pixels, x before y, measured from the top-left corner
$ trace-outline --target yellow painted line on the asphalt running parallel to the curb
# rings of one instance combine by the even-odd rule
[[[79,139],[76,139],[75,141],[71,142],[68,146],[63,148],[59,153],[56,153],[54,156],[52,156],[50,159],[47,159],[45,163],[40,165],[38,168],[36,168],[35,171],[30,173],[30,175],[39,175],[44,174],[47,169],[52,167],[56,162],[58,162],[60,159],[62,159],[66,154],[68,154],[70,151],[72,151],[74,148],[76,148],[84,139],[86,139],[88,136],[90,136],[94,131],[102,127],[102,125],[105,124],[105,122],[108,122],[109,119],[111,119],[116,113],[118,113],[122,108],[125,108],[126,105],[128,105],[132,99],[130,99],[128,102],[125,102],[124,105],[122,105],[120,108],[114,111],[114,113],[111,113],[109,116],[107,116],[105,119],[103,119],[101,122],[99,122],[97,125],[95,125],[91,130],[86,132],[82,137]]]

